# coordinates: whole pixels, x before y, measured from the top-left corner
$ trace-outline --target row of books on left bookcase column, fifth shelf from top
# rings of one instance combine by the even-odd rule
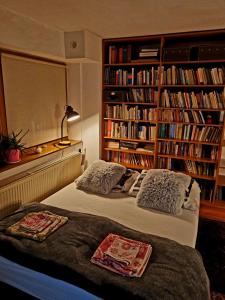
[[[111,138],[155,140],[156,126],[140,125],[134,122],[105,121],[105,135]]]

